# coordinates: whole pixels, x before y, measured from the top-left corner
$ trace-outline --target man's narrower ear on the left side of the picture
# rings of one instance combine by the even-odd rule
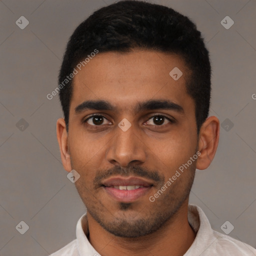
[[[68,151],[68,134],[63,118],[57,119],[56,133],[63,167],[66,171],[70,172],[72,168],[70,162],[70,154]]]

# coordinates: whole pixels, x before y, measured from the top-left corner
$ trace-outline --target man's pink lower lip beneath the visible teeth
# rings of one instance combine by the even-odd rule
[[[103,186],[105,191],[118,202],[132,202],[146,194],[151,186],[139,187],[132,190],[120,190],[118,188]]]

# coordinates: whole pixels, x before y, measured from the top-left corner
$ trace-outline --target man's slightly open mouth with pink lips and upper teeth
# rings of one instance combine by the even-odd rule
[[[102,182],[106,193],[117,202],[133,202],[148,193],[153,183],[140,177],[112,177]]]

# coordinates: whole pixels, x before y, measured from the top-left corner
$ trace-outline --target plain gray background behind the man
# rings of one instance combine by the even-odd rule
[[[74,28],[112,2],[0,1],[2,256],[48,255],[75,238],[85,206],[61,164],[55,134],[56,119],[62,116],[58,98],[48,100],[46,94],[57,86],[61,58]],[[210,167],[196,170],[190,203],[204,210],[213,229],[223,232],[220,226],[228,220],[234,226],[230,236],[256,247],[256,1],[151,2],[188,15],[211,56],[210,115],[216,115],[223,127]],[[24,29],[15,24],[21,15],[29,21]],[[234,21],[229,29],[220,23],[226,15]],[[21,126],[22,120],[16,124],[21,118],[28,127]],[[23,235],[15,229],[21,220],[29,226]]]

